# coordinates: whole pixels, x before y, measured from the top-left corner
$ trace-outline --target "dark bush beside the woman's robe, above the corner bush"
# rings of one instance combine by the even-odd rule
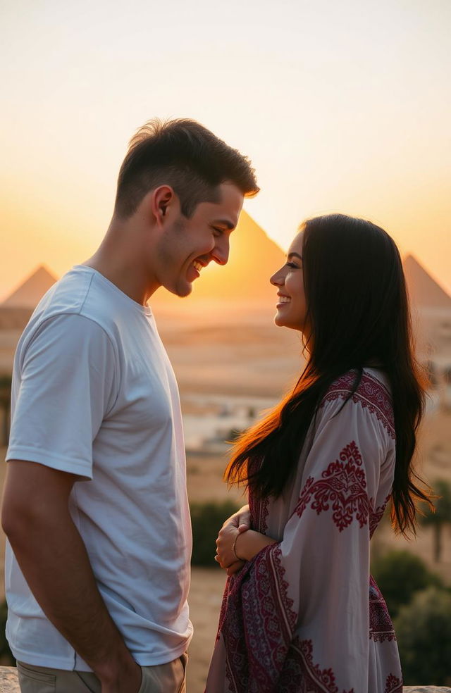
[[[381,589],[392,618],[401,606],[409,604],[416,592],[426,587],[442,586],[440,577],[431,573],[426,563],[409,551],[389,551],[376,558],[371,574]]]

